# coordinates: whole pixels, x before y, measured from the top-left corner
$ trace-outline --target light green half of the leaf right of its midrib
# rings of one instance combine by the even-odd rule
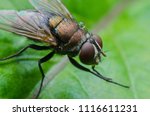
[[[148,1],[130,3],[100,33],[108,52],[97,70],[129,85],[129,89],[104,82],[69,64],[49,83],[42,98],[150,98],[149,6]]]

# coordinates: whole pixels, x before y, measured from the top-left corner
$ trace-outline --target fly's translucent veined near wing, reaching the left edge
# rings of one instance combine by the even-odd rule
[[[56,45],[48,27],[49,17],[36,11],[2,10],[0,11],[0,29]]]

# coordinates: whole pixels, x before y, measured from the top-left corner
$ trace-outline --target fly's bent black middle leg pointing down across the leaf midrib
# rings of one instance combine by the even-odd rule
[[[42,69],[42,64],[47,62],[48,60],[50,60],[53,56],[54,56],[55,52],[51,52],[49,53],[47,56],[43,57],[42,59],[40,59],[38,61],[38,66],[39,66],[39,69],[40,69],[40,72],[42,74],[42,80],[41,80],[41,84],[40,84],[40,88],[37,92],[37,95],[35,95],[35,98],[37,99],[41,93],[41,90],[42,90],[42,87],[43,87],[43,82],[44,82],[44,78],[45,78],[45,74],[44,74],[44,71]]]

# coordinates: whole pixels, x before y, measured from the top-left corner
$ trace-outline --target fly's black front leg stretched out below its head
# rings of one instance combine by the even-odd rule
[[[69,56],[68,56],[68,57],[69,57]],[[86,67],[80,65],[80,64],[79,64],[77,61],[75,61],[73,58],[69,57],[69,60],[70,60],[70,62],[71,62],[75,67],[77,67],[78,69],[81,69],[81,70],[83,70],[83,71],[89,72],[89,73],[91,73],[91,74],[93,74],[93,75],[99,77],[100,79],[105,80],[106,82],[113,83],[113,84],[115,84],[115,85],[119,85],[119,86],[124,87],[124,88],[129,88],[129,86],[122,85],[122,84],[120,84],[120,83],[114,82],[111,78],[107,78],[107,77],[102,76],[98,71],[95,70],[94,67],[93,67],[93,71],[94,71],[94,72],[93,72],[93,71],[91,71],[90,69],[88,69],[88,68],[86,68]]]

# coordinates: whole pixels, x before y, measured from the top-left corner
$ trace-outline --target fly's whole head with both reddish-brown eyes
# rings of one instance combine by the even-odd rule
[[[97,65],[101,61],[103,42],[98,35],[87,34],[87,41],[82,45],[79,54],[80,61],[86,65]]]

